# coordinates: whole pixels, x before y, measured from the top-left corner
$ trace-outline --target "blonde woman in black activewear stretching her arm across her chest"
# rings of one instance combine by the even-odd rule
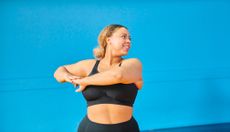
[[[78,132],[139,132],[133,117],[133,103],[141,89],[142,64],[136,58],[123,59],[130,48],[130,34],[122,25],[105,27],[98,36],[96,59],[60,66],[58,82],[79,86],[87,101],[87,114]]]

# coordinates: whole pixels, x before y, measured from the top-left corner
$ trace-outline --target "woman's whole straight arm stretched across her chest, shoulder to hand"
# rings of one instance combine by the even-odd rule
[[[142,64],[138,59],[128,59],[121,67],[115,67],[105,72],[97,73],[80,80],[79,85],[112,85],[117,83],[129,84],[142,80]]]

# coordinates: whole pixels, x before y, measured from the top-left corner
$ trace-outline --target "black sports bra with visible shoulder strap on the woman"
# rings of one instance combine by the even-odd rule
[[[96,61],[89,76],[98,73],[99,60]],[[138,88],[134,83],[131,84],[113,84],[113,85],[88,85],[82,94],[87,101],[87,105],[95,104],[120,104],[133,106],[137,96]]]

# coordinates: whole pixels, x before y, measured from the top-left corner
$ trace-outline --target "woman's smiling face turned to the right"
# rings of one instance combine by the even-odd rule
[[[111,37],[107,38],[107,43],[114,56],[126,55],[130,49],[130,34],[126,28],[119,28]]]

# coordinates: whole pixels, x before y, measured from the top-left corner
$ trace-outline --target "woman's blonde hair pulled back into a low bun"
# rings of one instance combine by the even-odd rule
[[[105,56],[106,52],[106,38],[111,37],[113,33],[119,28],[126,28],[123,25],[111,24],[106,26],[98,35],[98,46],[93,49],[94,57],[97,59],[102,59]],[[126,28],[127,29],[127,28]]]

